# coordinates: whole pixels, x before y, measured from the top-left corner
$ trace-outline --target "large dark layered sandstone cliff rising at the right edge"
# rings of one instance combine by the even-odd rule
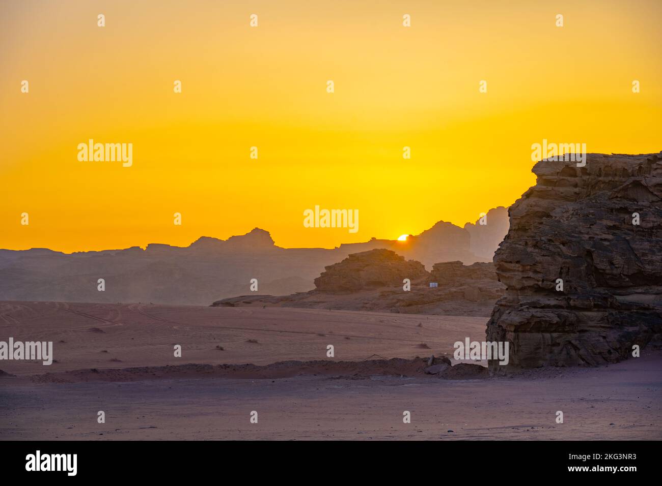
[[[662,155],[587,154],[585,167],[540,161],[533,172],[495,254],[506,295],[487,341],[509,341],[508,368],[529,368],[616,362],[659,339]]]

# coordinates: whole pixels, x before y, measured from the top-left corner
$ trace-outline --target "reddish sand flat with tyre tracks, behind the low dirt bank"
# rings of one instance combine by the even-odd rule
[[[52,341],[57,362],[0,361],[0,370],[31,375],[75,368],[326,360],[328,344],[334,346],[335,360],[452,355],[455,341],[483,341],[486,322],[485,317],[319,309],[1,302],[0,341],[10,336]],[[181,358],[174,356],[175,344],[181,345]]]

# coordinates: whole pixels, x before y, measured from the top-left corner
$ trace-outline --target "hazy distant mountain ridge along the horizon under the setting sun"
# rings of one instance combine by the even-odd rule
[[[226,240],[203,236],[188,247],[150,243],[145,249],[71,254],[43,248],[0,249],[0,300],[209,305],[219,298],[248,294],[252,278],[258,279],[260,294],[312,290],[314,278],[325,266],[372,249],[395,251],[428,268],[445,261],[491,261],[484,249],[493,245],[494,253],[501,240],[487,228],[502,225],[494,211],[488,212],[487,225],[471,231],[438,222],[407,241],[373,238],[334,249],[281,248],[260,228]],[[479,238],[481,251],[474,253],[472,241]],[[99,278],[105,280],[103,292],[97,290]]]

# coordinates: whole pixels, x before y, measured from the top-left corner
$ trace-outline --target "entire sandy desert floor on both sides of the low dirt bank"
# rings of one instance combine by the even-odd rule
[[[451,352],[454,341],[483,339],[483,318],[25,302],[1,304],[0,315],[0,340],[55,341],[58,360],[0,362],[17,375],[0,378],[0,439],[662,439],[659,351],[600,368],[475,380],[348,373],[339,362],[281,378],[201,372],[331,360],[329,343],[339,343],[335,361]],[[173,343],[183,358],[172,356]],[[90,378],[89,368],[126,374],[121,368],[132,366],[160,371],[146,368],[135,381]],[[36,382],[44,369],[71,383]],[[85,370],[85,379],[72,370]],[[250,423],[252,411],[258,423]],[[404,411],[411,423],[402,422]]]

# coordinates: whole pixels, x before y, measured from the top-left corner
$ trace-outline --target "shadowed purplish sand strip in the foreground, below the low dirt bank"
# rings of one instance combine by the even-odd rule
[[[661,376],[655,356],[534,379],[0,385],[0,438],[659,440]],[[99,410],[105,424],[97,423]],[[563,424],[555,423],[559,410]]]

